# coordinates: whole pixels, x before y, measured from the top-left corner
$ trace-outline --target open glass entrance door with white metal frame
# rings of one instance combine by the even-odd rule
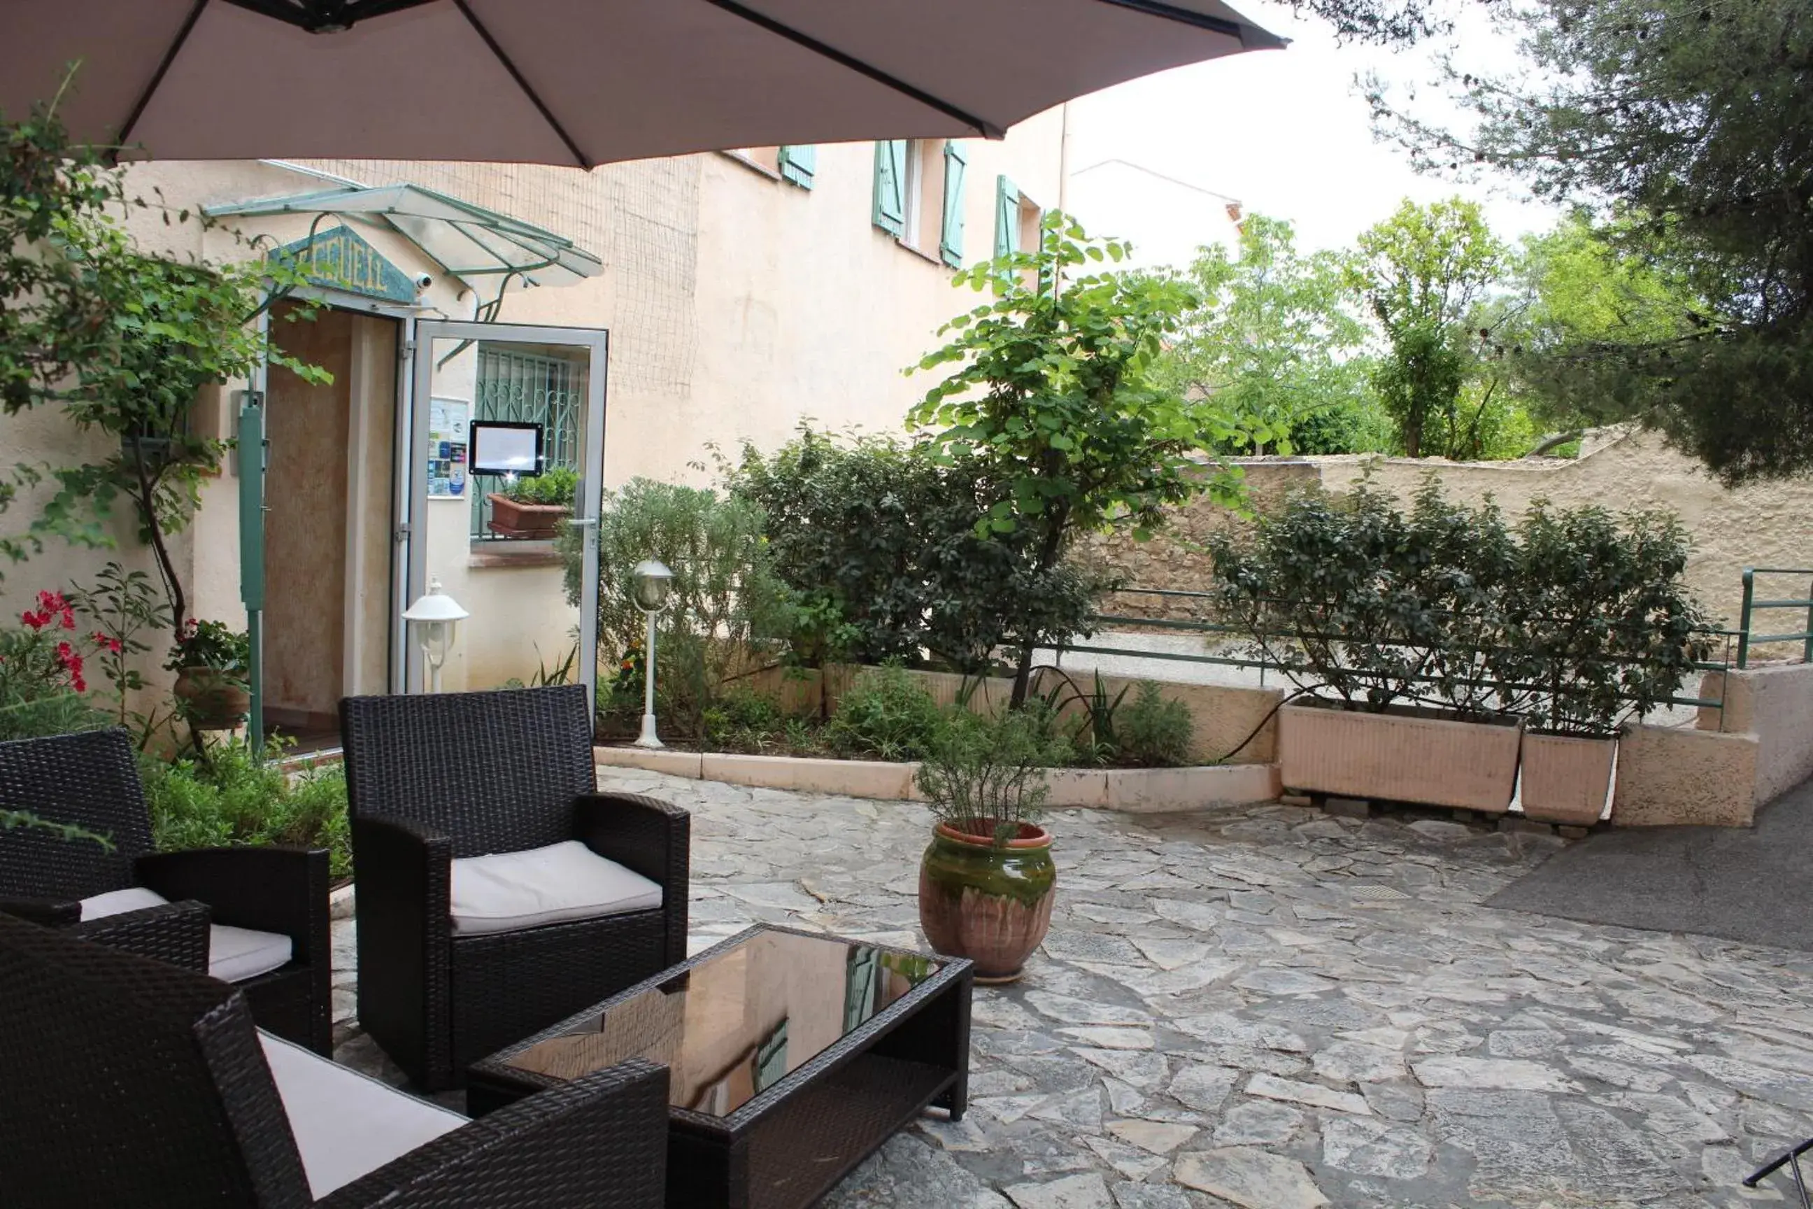
[[[439,585],[470,614],[442,691],[577,682],[596,700],[606,348],[591,328],[415,324],[397,527],[406,692],[431,683],[435,653],[401,614]]]

